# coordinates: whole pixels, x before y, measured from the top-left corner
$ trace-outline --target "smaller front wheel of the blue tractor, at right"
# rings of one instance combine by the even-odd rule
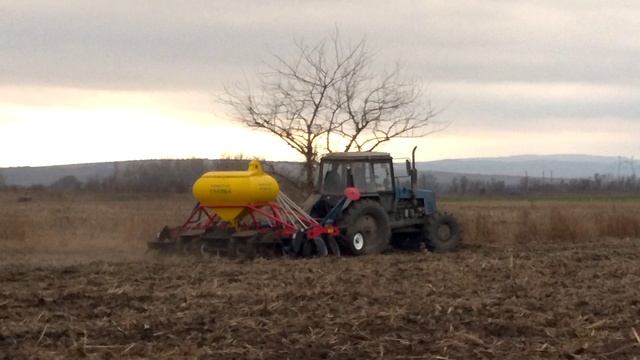
[[[435,252],[455,251],[462,245],[462,228],[453,215],[436,213],[425,224],[425,244]]]

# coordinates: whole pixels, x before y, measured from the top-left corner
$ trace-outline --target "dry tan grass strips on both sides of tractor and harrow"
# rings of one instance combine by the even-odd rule
[[[30,197],[30,201],[20,201]],[[67,259],[136,258],[163,225],[184,221],[190,195],[0,193],[5,260],[41,252]],[[467,243],[523,245],[640,237],[640,202],[452,201]]]

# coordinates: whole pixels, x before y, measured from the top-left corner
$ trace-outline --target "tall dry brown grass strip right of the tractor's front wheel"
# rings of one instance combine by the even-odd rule
[[[640,237],[640,202],[445,201],[441,207],[458,216],[465,240],[475,243]]]

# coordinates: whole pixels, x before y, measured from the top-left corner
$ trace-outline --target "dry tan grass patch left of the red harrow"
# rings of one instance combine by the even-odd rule
[[[7,259],[44,253],[56,261],[140,257],[146,240],[165,224],[178,224],[188,196],[0,193],[0,242]]]

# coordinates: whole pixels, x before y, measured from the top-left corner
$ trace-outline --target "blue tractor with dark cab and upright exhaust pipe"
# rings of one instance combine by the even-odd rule
[[[447,252],[462,244],[456,219],[436,208],[433,191],[417,189],[415,151],[407,175],[396,176],[393,158],[383,152],[330,153],[320,161],[319,182],[305,202],[311,216],[340,229],[327,241],[347,252],[366,255],[391,247]],[[357,189],[358,196],[347,196]]]

